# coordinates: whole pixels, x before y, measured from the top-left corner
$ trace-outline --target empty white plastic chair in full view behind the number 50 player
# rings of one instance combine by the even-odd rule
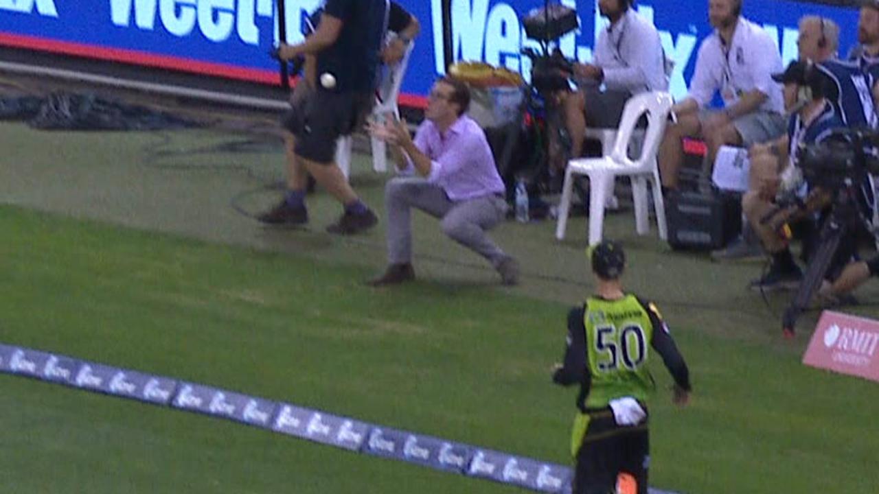
[[[659,238],[668,236],[665,225],[665,205],[662,191],[659,188],[659,170],[657,166],[657,149],[665,133],[665,121],[672,108],[672,96],[667,92],[643,92],[629,98],[622,112],[620,127],[617,129],[614,148],[610,156],[600,158],[574,159],[568,163],[564,173],[562,200],[558,209],[556,238],[564,238],[565,228],[570,213],[570,199],[573,192],[574,176],[589,177],[589,244],[601,242],[604,228],[604,212],[607,201],[608,184],[614,178],[626,176],[632,181],[632,199],[635,202],[635,222],[638,235],[646,235],[650,230],[647,212],[647,184],[653,192],[654,207],[657,216]],[[629,143],[633,139],[636,125],[641,115],[647,114],[647,129],[640,156],[636,160],[628,157]]]

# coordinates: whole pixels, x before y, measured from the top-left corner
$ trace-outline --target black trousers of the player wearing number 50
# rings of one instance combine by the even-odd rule
[[[638,494],[647,494],[650,466],[650,434],[647,422],[635,427],[616,425],[607,408],[590,414],[583,446],[577,454],[572,494],[614,492],[616,477],[626,472],[635,477]]]

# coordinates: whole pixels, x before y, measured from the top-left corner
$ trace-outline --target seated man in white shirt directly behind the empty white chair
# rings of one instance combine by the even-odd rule
[[[563,97],[571,157],[582,154],[587,125],[616,128],[633,94],[668,90],[657,28],[633,11],[631,2],[599,0],[599,12],[610,25],[599,33],[592,63],[574,64],[580,91]]]

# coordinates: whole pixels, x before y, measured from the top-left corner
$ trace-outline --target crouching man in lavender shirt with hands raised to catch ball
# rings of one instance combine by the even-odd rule
[[[412,207],[439,218],[447,236],[488,259],[505,285],[519,282],[516,260],[485,235],[505,218],[505,186],[483,129],[464,114],[469,104],[467,85],[444,77],[433,84],[414,141],[405,122],[371,125],[374,136],[391,144],[397,168],[410,176],[394,178],[385,188],[389,266],[370,285],[415,279]]]

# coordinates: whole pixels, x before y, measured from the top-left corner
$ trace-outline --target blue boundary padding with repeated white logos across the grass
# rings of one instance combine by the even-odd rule
[[[0,344],[0,373],[225,418],[348,451],[407,461],[528,490],[570,492],[573,473],[554,463],[367,424],[321,410],[171,377]],[[650,494],[673,494],[650,489]]]

